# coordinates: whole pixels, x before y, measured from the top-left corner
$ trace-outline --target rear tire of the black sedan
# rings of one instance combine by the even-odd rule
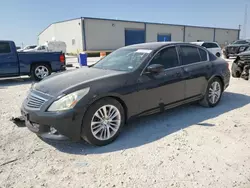
[[[219,87],[219,91],[217,92],[217,96],[218,98],[216,99],[216,101],[212,102],[212,99],[210,99],[209,97],[209,92],[210,89],[214,88],[214,84],[216,84],[216,89]],[[219,85],[217,85],[219,84]],[[222,82],[218,77],[213,78],[212,80],[209,81],[208,85],[207,85],[207,90],[206,93],[204,95],[204,98],[200,101],[200,105],[204,106],[204,107],[215,107],[221,99],[221,95],[222,95]]]

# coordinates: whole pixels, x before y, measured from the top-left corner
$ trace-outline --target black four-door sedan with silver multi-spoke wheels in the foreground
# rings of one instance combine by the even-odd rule
[[[134,117],[200,102],[216,106],[228,87],[228,63],[188,43],[120,48],[92,67],[58,73],[30,89],[21,112],[37,135],[114,141]]]

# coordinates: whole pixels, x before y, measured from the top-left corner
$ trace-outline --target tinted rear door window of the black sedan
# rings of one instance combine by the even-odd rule
[[[181,46],[181,61],[183,65],[200,62],[200,54],[196,47]]]

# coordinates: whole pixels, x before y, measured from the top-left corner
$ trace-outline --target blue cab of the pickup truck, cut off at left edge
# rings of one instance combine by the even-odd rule
[[[0,76],[17,75],[19,71],[17,55],[11,51],[10,42],[0,42]]]

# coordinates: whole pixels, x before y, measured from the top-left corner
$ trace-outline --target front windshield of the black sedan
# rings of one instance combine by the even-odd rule
[[[98,61],[93,67],[131,72],[138,68],[151,52],[152,50],[148,49],[121,48]]]

